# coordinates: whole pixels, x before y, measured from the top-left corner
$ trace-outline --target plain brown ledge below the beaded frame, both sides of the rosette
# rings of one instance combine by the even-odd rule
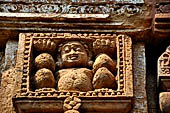
[[[62,113],[64,102],[61,100],[17,100],[14,104],[19,113]],[[86,112],[128,113],[131,109],[131,100],[82,100],[80,109]]]

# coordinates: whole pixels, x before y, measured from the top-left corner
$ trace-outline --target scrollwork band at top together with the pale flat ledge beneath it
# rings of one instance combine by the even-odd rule
[[[58,19],[60,21],[64,18],[98,18],[108,21],[110,16],[129,17],[143,12],[144,0],[16,0],[0,3],[2,17],[62,18]]]

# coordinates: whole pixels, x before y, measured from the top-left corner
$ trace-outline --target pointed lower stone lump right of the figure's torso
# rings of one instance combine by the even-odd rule
[[[93,77],[94,89],[111,88],[116,86],[115,76],[105,67],[99,68]]]

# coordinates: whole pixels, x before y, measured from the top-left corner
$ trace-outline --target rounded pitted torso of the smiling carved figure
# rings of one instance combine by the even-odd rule
[[[64,69],[58,72],[59,91],[91,91],[92,71],[86,68]]]

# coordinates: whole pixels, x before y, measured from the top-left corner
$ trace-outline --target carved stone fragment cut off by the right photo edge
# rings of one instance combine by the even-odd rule
[[[159,105],[162,113],[169,113],[170,103],[170,45],[158,59]]]

